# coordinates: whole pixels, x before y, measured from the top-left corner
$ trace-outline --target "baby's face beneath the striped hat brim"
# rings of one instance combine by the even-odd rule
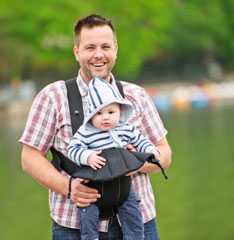
[[[91,119],[94,127],[108,131],[115,128],[120,118],[120,106],[118,103],[112,103],[102,108]]]

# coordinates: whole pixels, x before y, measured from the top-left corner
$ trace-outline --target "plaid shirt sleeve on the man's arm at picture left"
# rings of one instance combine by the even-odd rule
[[[56,111],[44,88],[35,97],[19,142],[46,153],[53,145],[56,132]]]

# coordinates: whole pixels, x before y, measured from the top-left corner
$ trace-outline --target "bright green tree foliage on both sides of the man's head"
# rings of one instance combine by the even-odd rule
[[[69,66],[74,67],[72,23],[95,12],[109,16],[117,25],[121,47],[116,70],[121,76],[135,76],[144,60],[154,55],[165,39],[168,4],[167,0],[162,3],[42,0],[40,4],[2,0],[0,64],[8,69],[5,71],[8,76],[22,75],[25,65],[32,71],[55,68],[66,71]]]

